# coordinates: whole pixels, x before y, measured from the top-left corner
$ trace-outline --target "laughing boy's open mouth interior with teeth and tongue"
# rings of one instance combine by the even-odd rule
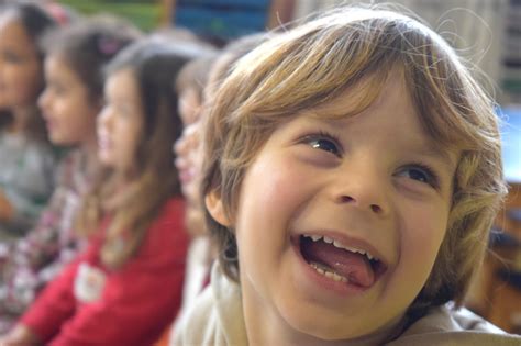
[[[299,248],[303,259],[319,274],[359,288],[372,287],[387,270],[370,253],[328,236],[302,234]]]

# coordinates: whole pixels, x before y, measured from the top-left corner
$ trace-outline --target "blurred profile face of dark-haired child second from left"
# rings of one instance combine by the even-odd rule
[[[38,99],[49,138],[54,144],[89,144],[96,141],[96,116],[100,102],[69,64],[59,55],[45,58],[46,87]]]

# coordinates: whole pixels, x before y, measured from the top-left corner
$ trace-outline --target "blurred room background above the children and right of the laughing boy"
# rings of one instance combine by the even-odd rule
[[[52,2],[52,1],[49,1]],[[290,25],[337,0],[60,0],[81,15],[114,13],[147,32],[185,27],[217,45],[244,34]],[[370,1],[378,3],[383,1]],[[389,1],[386,1],[389,2]],[[485,72],[485,87],[503,120],[503,159],[510,193],[489,241],[490,253],[467,305],[521,333],[521,0],[398,0]]]

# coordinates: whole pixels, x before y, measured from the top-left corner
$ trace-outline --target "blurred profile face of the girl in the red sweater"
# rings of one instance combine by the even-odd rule
[[[122,174],[135,168],[144,114],[137,80],[129,68],[109,76],[104,86],[106,105],[98,116],[98,157]]]

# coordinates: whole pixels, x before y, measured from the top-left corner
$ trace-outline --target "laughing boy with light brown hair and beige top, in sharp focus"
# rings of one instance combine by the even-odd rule
[[[202,192],[221,249],[176,345],[517,345],[459,308],[505,193],[492,102],[452,48],[342,8],[218,91]]]

